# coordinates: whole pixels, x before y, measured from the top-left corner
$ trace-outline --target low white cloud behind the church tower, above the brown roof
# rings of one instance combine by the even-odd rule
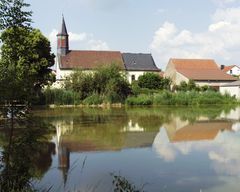
[[[53,51],[56,51],[57,49],[57,34],[58,30],[53,29],[48,35]],[[69,32],[69,46],[70,49],[109,50],[109,46],[105,41],[95,39],[93,34],[87,34],[84,32]]]

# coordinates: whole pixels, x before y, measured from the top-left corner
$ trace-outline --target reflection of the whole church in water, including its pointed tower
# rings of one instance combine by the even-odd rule
[[[62,170],[64,183],[70,167],[71,152],[117,151],[126,148],[150,147],[157,134],[157,130],[144,132],[144,128],[131,120],[127,126],[119,127],[117,131],[110,131],[109,138],[102,135],[102,127],[96,129],[86,125],[86,127],[84,125],[77,127],[72,120],[54,121],[53,124],[56,126],[58,167]]]

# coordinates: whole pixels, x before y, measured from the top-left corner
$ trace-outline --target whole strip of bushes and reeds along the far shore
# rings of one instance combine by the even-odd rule
[[[237,99],[222,95],[190,80],[170,89],[171,80],[158,74],[145,73],[131,85],[117,65],[104,66],[96,72],[75,71],[67,77],[61,89],[47,88],[45,103],[55,105],[218,105],[236,104]]]

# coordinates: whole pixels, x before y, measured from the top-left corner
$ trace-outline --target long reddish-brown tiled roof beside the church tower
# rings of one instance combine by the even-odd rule
[[[61,69],[95,69],[101,65],[117,64],[124,69],[121,53],[119,51],[70,51],[66,56],[60,57]]]

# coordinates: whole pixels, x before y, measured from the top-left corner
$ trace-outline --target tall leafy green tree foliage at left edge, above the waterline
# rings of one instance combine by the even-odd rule
[[[27,101],[53,81],[54,55],[49,41],[31,28],[31,11],[23,0],[1,0],[0,99]]]

